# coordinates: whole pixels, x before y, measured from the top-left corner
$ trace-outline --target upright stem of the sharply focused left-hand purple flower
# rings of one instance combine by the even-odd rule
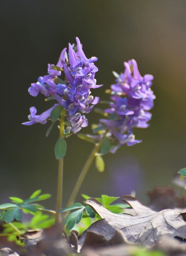
[[[65,109],[63,108],[61,111],[61,119],[59,122],[59,137],[62,138],[64,136],[64,114]],[[58,192],[57,192],[57,206],[56,206],[56,217],[55,221],[60,222],[61,214],[58,212],[62,207],[62,187],[63,187],[63,159],[59,159],[58,164]]]

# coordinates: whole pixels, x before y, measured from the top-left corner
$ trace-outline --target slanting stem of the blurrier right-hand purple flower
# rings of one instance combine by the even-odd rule
[[[77,197],[77,194],[79,192],[81,184],[82,184],[83,180],[85,179],[85,176],[86,176],[86,174],[87,174],[87,172],[88,172],[88,170],[90,168],[91,163],[94,160],[94,157],[95,157],[96,153],[98,153],[101,145],[104,142],[104,139],[106,137],[106,133],[107,132],[105,132],[105,134],[104,134],[103,138],[101,138],[100,142],[96,143],[94,149],[92,150],[91,154],[89,155],[89,157],[87,159],[87,162],[85,163],[85,165],[84,165],[84,167],[83,167],[83,169],[82,169],[82,171],[81,171],[81,173],[79,175],[79,178],[78,178],[78,180],[76,182],[75,188],[73,189],[73,191],[71,193],[71,196],[70,196],[70,199],[68,201],[68,205],[67,206],[70,206],[70,205],[72,205],[75,202],[75,199]]]

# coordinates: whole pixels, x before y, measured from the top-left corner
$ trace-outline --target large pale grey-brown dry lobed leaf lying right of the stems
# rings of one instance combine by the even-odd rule
[[[162,235],[179,236],[186,239],[186,223],[181,216],[186,209],[166,209],[157,212],[142,205],[131,196],[125,196],[122,200],[131,205],[136,211],[136,216],[113,214],[94,198],[90,198],[86,202],[111,227],[121,230],[129,242],[152,246],[160,240]],[[95,224],[95,228],[99,228],[99,226],[96,227]],[[107,233],[107,235],[111,234]]]

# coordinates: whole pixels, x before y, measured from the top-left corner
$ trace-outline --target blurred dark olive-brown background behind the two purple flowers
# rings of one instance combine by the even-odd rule
[[[96,79],[104,87],[92,90],[93,95],[107,100],[104,91],[114,83],[111,71],[123,72],[123,61],[132,58],[142,75],[154,75],[156,95],[151,126],[134,130],[143,143],[106,155],[104,173],[93,164],[80,192],[97,197],[135,190],[145,201],[147,190],[171,184],[173,174],[186,166],[185,8],[184,0],[2,1],[1,202],[8,196],[27,198],[40,188],[52,194],[46,206],[55,207],[58,130],[46,138],[50,123],[31,127],[21,123],[27,121],[31,106],[38,113],[49,108],[43,95],[34,98],[27,90],[47,74],[48,63],[57,63],[61,50],[76,36],[87,57],[98,57]],[[90,113],[87,118],[92,123],[99,116]],[[91,149],[76,136],[68,139],[63,205]]]

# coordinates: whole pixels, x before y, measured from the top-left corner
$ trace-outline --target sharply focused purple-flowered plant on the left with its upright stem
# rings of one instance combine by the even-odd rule
[[[40,115],[36,115],[36,109],[30,108],[29,122],[23,125],[41,123],[44,125],[47,120],[52,125],[47,131],[49,135],[54,123],[59,121],[59,139],[55,144],[55,157],[59,160],[58,168],[58,193],[57,193],[57,222],[60,221],[59,209],[62,206],[62,180],[63,180],[63,157],[66,155],[67,143],[64,138],[78,133],[82,127],[88,126],[88,120],[84,113],[89,113],[99,98],[91,95],[90,89],[96,89],[103,85],[96,85],[95,73],[98,68],[94,65],[96,57],[88,59],[80,43],[76,38],[77,46],[69,43],[67,48],[61,52],[57,65],[48,65],[48,75],[40,76],[37,83],[31,84],[29,93],[37,96],[40,93],[47,97],[45,101],[54,100],[53,107]],[[61,77],[61,75],[63,76]]]

